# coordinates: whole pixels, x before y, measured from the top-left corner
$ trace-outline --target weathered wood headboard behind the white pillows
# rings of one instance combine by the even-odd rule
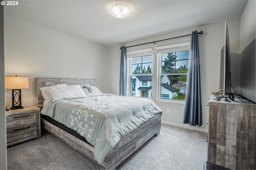
[[[69,78],[36,78],[36,106],[42,110],[44,105],[44,98],[40,91],[41,87],[49,87],[52,85],[67,84],[67,85],[82,85],[90,84],[96,85],[96,79],[69,79]]]

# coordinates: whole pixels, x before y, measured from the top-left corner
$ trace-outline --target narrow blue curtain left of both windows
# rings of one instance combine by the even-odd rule
[[[126,96],[126,47],[121,47],[121,63],[120,63],[120,80],[119,80],[119,95]]]

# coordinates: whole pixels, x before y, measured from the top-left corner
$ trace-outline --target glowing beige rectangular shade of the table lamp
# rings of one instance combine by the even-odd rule
[[[6,76],[5,89],[28,89],[28,77]]]

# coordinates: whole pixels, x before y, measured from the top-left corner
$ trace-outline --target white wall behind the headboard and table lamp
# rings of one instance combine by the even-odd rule
[[[5,15],[5,74],[26,76],[22,106],[36,105],[36,77],[96,79],[108,93],[108,47]],[[12,105],[6,90],[6,107]]]

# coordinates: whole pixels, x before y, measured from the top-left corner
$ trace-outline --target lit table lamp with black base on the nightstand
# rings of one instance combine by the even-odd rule
[[[21,89],[28,89],[28,77],[5,76],[5,89],[12,89],[12,107],[13,109],[22,109]]]

